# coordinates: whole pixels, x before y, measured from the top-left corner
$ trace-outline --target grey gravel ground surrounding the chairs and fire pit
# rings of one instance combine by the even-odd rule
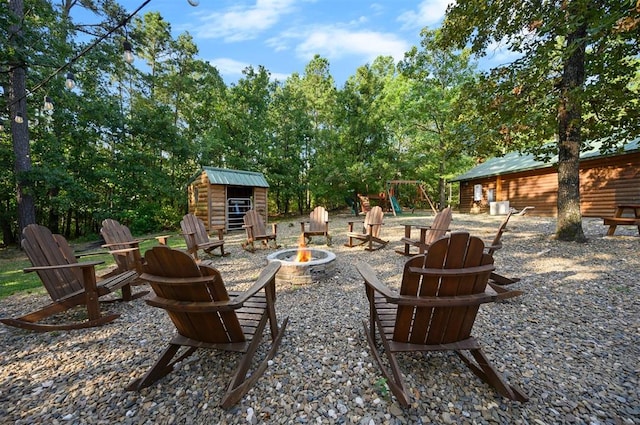
[[[502,398],[450,353],[400,357],[413,393],[409,408],[389,395],[362,329],[368,316],[354,264],[370,263],[397,286],[405,257],[403,223],[429,214],[385,218],[384,249],[346,248],[347,220],[332,216],[333,274],[317,283],[278,285],[279,319],[289,325],[273,363],[228,411],[217,407],[237,356],[199,350],[181,369],[140,393],[123,388],[156,360],[174,333],[166,314],[141,300],[103,305],[122,316],[100,328],[40,334],[0,325],[0,423],[71,424],[640,424],[639,241],[634,227],[604,237],[585,219],[588,242],[551,238],[555,221],[512,217],[495,254],[498,271],[520,277],[524,295],[484,305],[474,334],[494,365],[529,395]],[[491,240],[502,217],[454,213],[453,230]],[[298,220],[278,227],[283,248],[297,244]],[[266,256],[227,235],[228,257],[213,258],[227,285],[245,289]],[[326,248],[314,238],[312,246]],[[0,300],[0,315],[26,313],[44,295]],[[68,312],[79,314],[78,312]]]

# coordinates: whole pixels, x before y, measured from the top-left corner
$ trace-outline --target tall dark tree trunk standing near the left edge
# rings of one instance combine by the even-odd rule
[[[24,4],[22,0],[10,0],[9,8],[18,22],[24,20]],[[12,26],[9,30],[9,43],[20,48],[23,42],[21,29]],[[11,120],[11,137],[13,153],[15,155],[16,200],[18,204],[18,234],[22,229],[36,222],[36,209],[32,195],[28,191],[29,172],[31,171],[31,156],[29,149],[29,126],[27,117],[27,71],[26,64],[12,63],[9,65],[9,112]],[[15,122],[16,115],[21,114],[22,123]],[[22,239],[22,237],[20,237]]]

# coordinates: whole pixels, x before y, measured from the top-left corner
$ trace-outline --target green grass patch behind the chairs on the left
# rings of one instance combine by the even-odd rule
[[[141,237],[145,239],[140,244],[140,251],[142,255],[151,247],[158,244],[154,239],[155,235],[148,235]],[[100,241],[71,241],[71,247],[74,251],[82,256],[78,259],[82,261],[103,261],[102,264],[96,266],[96,273],[98,275],[104,274],[105,271],[115,265],[113,256],[103,248],[100,248]],[[172,235],[168,239],[168,245],[172,248],[186,247],[184,239],[182,237],[176,237]],[[27,267],[31,267],[31,262],[27,258],[24,251],[17,249],[16,247],[7,247],[0,249],[0,299],[6,298],[9,295],[16,294],[18,292],[33,292],[44,293],[45,289],[42,286],[40,278],[37,273],[25,273],[23,270]]]

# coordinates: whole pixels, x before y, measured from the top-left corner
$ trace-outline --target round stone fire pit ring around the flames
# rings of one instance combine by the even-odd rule
[[[310,261],[296,261],[298,248],[283,249],[267,256],[269,263],[281,264],[276,274],[276,283],[305,285],[328,276],[333,272],[336,254],[317,248],[304,248],[311,253]]]

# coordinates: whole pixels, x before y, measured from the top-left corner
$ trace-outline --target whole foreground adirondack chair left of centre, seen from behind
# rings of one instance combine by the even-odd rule
[[[198,265],[183,251],[156,246],[147,251],[145,258],[146,273],[141,278],[151,284],[156,294],[146,302],[165,309],[178,333],[151,369],[129,384],[127,390],[137,391],[153,384],[198,348],[234,351],[243,354],[220,403],[225,409],[231,407],[266,370],[286,329],[288,318],[278,326],[275,312],[275,275],[280,264],[267,265],[246,292],[228,293],[216,269]],[[247,376],[267,321],[271,347]]]

